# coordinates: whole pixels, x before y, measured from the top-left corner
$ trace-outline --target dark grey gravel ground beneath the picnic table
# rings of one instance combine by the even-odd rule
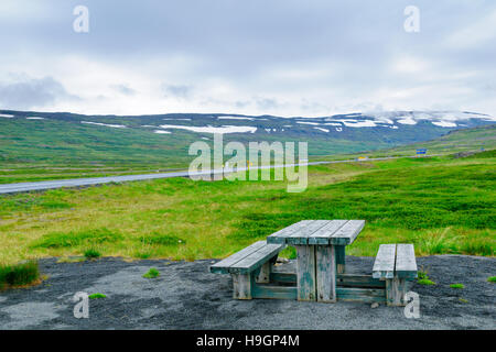
[[[370,274],[373,261],[348,256],[347,272]],[[419,267],[438,285],[411,287],[420,295],[418,319],[407,319],[401,307],[384,305],[234,300],[230,277],[208,273],[213,262],[42,260],[40,267],[47,278],[41,285],[0,293],[0,329],[496,328],[496,285],[487,282],[496,275],[496,258],[419,257]],[[143,278],[150,267],[161,275]],[[450,288],[453,283],[465,288]],[[77,292],[101,293],[107,298],[89,300],[89,318],[76,319],[73,296]]]

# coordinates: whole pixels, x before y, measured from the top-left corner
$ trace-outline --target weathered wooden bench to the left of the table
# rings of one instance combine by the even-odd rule
[[[265,297],[256,284],[268,284],[272,265],[284,244],[270,244],[258,241],[250,246],[212,265],[211,273],[230,274],[233,277],[233,298],[276,298]],[[255,296],[255,297],[254,297]]]

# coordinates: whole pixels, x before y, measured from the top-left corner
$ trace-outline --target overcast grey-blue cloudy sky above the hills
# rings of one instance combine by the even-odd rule
[[[1,0],[0,109],[496,116],[496,1]]]

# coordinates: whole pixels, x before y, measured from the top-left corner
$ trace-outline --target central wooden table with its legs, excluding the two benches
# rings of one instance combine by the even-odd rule
[[[296,249],[299,300],[334,302],[337,274],[345,272],[345,248],[352,244],[365,220],[302,220],[267,238],[267,243]]]

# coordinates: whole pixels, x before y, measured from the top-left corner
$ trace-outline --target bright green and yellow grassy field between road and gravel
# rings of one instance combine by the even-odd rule
[[[79,255],[224,257],[303,219],[365,219],[348,254],[414,243],[418,255],[495,254],[496,154],[309,167],[283,182],[186,178],[0,197],[0,264]],[[285,255],[292,255],[291,250]]]

